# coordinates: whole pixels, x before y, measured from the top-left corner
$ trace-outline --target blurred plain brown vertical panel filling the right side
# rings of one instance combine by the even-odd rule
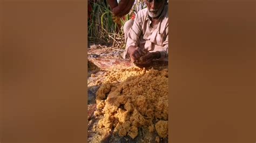
[[[170,1],[169,139],[255,142],[255,1]]]

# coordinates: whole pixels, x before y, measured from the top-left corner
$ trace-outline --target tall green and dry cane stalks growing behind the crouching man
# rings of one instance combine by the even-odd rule
[[[88,21],[88,40],[93,43],[125,48],[123,26],[130,15],[121,19],[118,25],[112,20],[112,12],[108,4],[98,1],[92,4],[91,18]]]

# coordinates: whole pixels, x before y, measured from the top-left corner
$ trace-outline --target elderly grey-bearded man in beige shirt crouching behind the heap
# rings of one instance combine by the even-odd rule
[[[166,0],[144,0],[147,9],[140,10],[127,33],[123,58],[138,66],[150,66],[152,60],[168,59],[168,6]]]

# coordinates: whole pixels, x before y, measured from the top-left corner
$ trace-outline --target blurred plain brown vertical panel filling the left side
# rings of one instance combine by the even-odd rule
[[[2,142],[87,141],[86,6],[4,1]]]

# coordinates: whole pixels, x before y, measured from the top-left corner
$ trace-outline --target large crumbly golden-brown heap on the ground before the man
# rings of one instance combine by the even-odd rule
[[[132,139],[138,128],[168,134],[168,70],[116,69],[108,71],[96,92],[96,116],[103,116],[95,127],[101,134],[118,133]],[[158,138],[159,140],[159,138]]]

